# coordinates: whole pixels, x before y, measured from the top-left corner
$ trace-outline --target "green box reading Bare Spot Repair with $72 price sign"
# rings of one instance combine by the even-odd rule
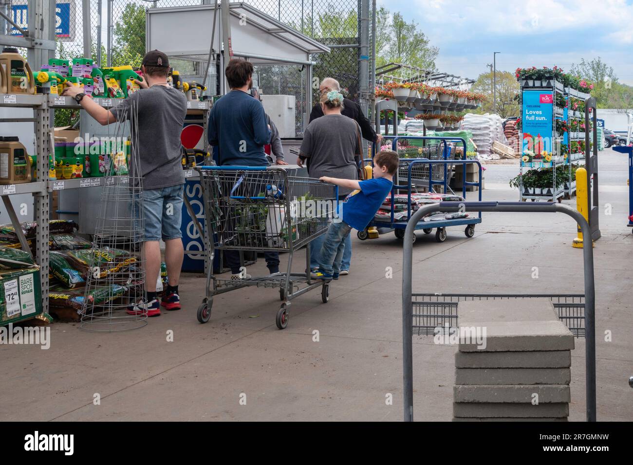
[[[0,326],[42,313],[40,267],[0,270]]]

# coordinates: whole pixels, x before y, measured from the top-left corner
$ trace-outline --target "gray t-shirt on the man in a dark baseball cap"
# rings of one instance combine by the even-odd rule
[[[187,97],[183,92],[153,85],[137,90],[110,111],[117,121],[130,120],[132,137],[138,135],[132,146],[138,147],[143,189],[184,184],[180,132],[187,115]],[[130,167],[130,175],[134,175],[133,170]]]

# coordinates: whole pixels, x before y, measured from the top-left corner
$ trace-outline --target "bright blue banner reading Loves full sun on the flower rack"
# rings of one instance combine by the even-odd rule
[[[523,154],[552,151],[553,105],[551,90],[523,90]]]

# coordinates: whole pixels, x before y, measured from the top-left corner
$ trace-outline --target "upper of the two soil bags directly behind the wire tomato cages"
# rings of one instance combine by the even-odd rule
[[[130,256],[130,252],[111,247],[68,251],[66,256],[68,256],[73,268],[78,270],[82,276],[87,277],[88,273],[92,273],[97,279],[106,278],[113,273],[120,273],[137,263],[137,259]]]

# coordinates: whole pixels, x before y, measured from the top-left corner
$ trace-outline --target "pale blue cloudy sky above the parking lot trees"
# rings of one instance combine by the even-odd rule
[[[439,47],[437,68],[477,78],[497,69],[558,65],[600,56],[633,85],[633,0],[377,0],[415,20]]]

